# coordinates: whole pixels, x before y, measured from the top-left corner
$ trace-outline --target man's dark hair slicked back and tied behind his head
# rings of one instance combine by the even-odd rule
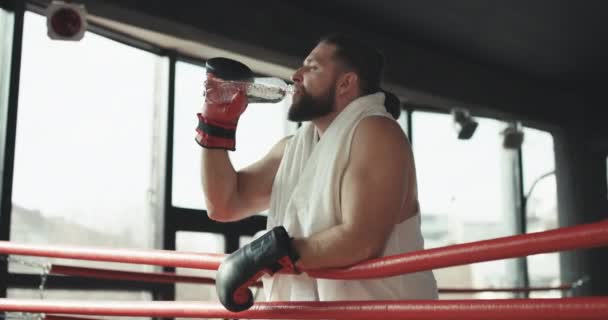
[[[382,91],[385,94],[386,110],[399,118],[401,105],[394,94],[382,90],[380,83],[384,75],[384,55],[373,46],[341,33],[333,33],[321,38],[319,42],[329,43],[336,47],[335,58],[359,76],[363,95]]]

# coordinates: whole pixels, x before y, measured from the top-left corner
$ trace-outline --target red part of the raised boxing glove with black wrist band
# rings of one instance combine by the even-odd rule
[[[233,92],[219,92],[221,81],[209,74],[206,81],[206,94],[203,109],[198,116],[196,142],[205,148],[235,150],[236,126],[241,114],[247,108],[247,95],[244,88],[234,88]],[[228,102],[216,102],[214,95],[230,94]],[[221,99],[217,99],[221,100]]]

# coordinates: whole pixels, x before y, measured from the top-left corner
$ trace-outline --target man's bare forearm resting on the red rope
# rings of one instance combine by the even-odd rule
[[[375,257],[380,247],[361,233],[338,225],[308,238],[294,239],[299,269],[347,267]]]

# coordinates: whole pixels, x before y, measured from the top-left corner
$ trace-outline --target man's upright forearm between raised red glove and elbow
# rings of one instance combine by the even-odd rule
[[[202,149],[201,179],[207,208],[221,215],[230,210],[230,201],[237,189],[237,174],[228,152],[221,149]]]

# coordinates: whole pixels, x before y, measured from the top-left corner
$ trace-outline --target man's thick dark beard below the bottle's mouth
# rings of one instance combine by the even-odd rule
[[[334,111],[335,84],[319,97],[313,97],[304,89],[298,102],[293,102],[287,113],[290,121],[310,121]]]

